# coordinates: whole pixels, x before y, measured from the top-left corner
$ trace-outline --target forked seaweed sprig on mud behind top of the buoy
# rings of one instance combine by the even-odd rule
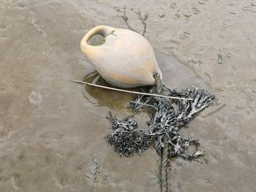
[[[118,8],[116,10],[119,13],[118,17],[123,18],[124,22],[127,24],[127,27],[129,28],[129,30],[135,31],[136,33],[140,34],[140,32],[135,30],[135,28],[133,28],[128,22],[129,18],[127,17],[127,7],[124,6],[122,10],[120,8]],[[144,36],[144,34],[146,33],[146,27],[147,27],[147,23],[145,22],[145,20],[148,18],[148,13],[146,13],[144,15],[144,17],[142,17],[140,10],[138,10],[138,12],[135,12],[135,14],[137,15],[140,22],[143,24],[142,35]]]

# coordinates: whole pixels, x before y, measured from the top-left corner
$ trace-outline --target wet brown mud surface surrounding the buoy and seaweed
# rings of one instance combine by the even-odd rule
[[[200,139],[208,164],[176,159],[170,188],[255,191],[256,2],[251,0],[0,1],[0,191],[159,191],[154,150],[119,158],[104,139],[110,132],[108,111],[130,115],[126,105],[132,95],[68,81],[94,71],[80,52],[86,31],[97,25],[127,28],[116,12],[124,5],[148,12],[146,38],[167,86],[208,87],[226,104],[183,130]],[[127,14],[140,31],[136,15]],[[29,103],[31,91],[42,96],[37,107]],[[140,127],[146,127],[147,117],[140,118]],[[94,155],[100,166],[96,183],[86,177]]]

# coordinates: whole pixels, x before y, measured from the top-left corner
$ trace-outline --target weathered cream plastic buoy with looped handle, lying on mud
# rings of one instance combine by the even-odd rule
[[[102,43],[88,45],[88,40],[96,34],[104,37]],[[154,73],[162,78],[153,48],[134,31],[97,26],[83,37],[81,50],[97,72],[112,85],[121,88],[154,85]]]

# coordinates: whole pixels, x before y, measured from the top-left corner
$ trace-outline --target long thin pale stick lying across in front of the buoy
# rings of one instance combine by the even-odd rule
[[[69,81],[77,82],[77,83],[85,84],[85,85],[90,85],[90,86],[94,86],[97,88],[105,88],[105,89],[110,89],[113,91],[121,91],[121,92],[125,92],[125,93],[133,93],[133,94],[140,94],[140,95],[146,95],[146,96],[159,96],[159,97],[169,98],[169,99],[193,100],[193,99],[189,99],[189,98],[182,98],[182,97],[176,97],[176,96],[162,96],[162,95],[152,94],[152,93],[142,93],[142,92],[137,92],[137,91],[128,91],[128,90],[119,89],[119,88],[110,88],[110,87],[106,87],[106,86],[102,86],[102,85],[95,85],[90,82],[83,82],[83,81],[78,81],[78,80],[69,80]]]

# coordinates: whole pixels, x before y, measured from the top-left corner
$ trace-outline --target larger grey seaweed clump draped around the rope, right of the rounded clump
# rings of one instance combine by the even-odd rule
[[[152,103],[148,102],[154,104],[156,110],[151,115],[149,132],[151,135],[155,135],[154,147],[157,153],[161,154],[163,147],[165,147],[163,138],[166,136],[169,156],[192,159],[203,155],[203,152],[197,150],[188,154],[187,147],[189,145],[199,145],[198,139],[183,139],[179,131],[181,127],[187,126],[201,110],[214,103],[214,95],[196,87],[174,91],[165,88],[165,93],[169,96],[187,97],[193,100],[170,101],[159,99],[158,101],[152,100]]]

